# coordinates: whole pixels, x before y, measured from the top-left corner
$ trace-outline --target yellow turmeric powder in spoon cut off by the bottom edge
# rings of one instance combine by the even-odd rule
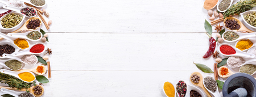
[[[174,97],[175,96],[175,88],[170,82],[164,83],[164,92],[166,92],[166,95],[168,97]]]

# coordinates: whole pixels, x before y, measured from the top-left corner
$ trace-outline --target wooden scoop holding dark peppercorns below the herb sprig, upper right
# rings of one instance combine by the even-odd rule
[[[238,30],[236,29],[236,30],[232,30],[232,31],[246,31],[246,32],[249,32],[249,33],[254,32],[254,31],[251,31],[250,29],[246,28],[245,25],[243,25],[243,23],[239,19],[234,18],[234,17],[225,18],[224,19],[224,26],[226,25],[225,22],[226,22],[227,19],[237,20],[238,24],[240,25],[240,29],[238,29]],[[229,29],[229,28],[227,28],[227,29]],[[229,30],[231,30],[231,29],[229,29]]]

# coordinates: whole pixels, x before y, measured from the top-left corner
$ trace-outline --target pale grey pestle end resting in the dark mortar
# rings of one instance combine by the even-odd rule
[[[247,91],[245,88],[237,88],[236,90],[230,92],[230,94],[226,95],[225,97],[246,97]]]

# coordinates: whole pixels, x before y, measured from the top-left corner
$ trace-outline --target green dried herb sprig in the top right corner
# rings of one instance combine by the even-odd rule
[[[226,12],[223,13],[224,19],[230,15],[239,15],[241,12],[245,12],[253,9],[256,6],[256,0],[240,0],[235,5],[232,5]]]

